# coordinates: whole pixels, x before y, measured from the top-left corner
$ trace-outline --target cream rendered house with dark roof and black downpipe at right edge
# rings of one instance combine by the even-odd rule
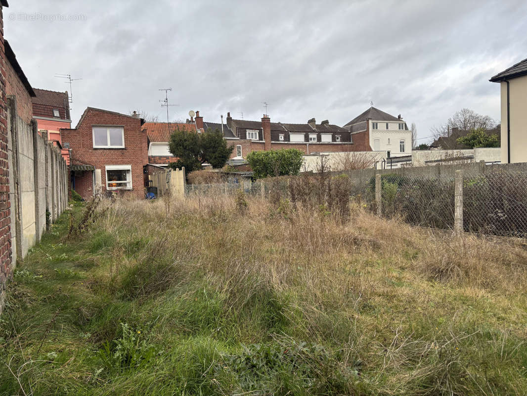
[[[490,81],[501,85],[501,162],[527,162],[527,59]]]

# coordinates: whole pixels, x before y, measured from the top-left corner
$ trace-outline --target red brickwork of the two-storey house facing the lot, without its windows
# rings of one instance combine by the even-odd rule
[[[94,149],[92,135],[94,125],[123,126],[125,148]],[[79,160],[93,165],[95,169],[101,169],[103,192],[106,191],[106,165],[131,165],[133,190],[123,194],[144,198],[143,165],[148,162],[148,147],[147,134],[141,131],[139,118],[89,108],[77,129],[62,129],[61,132],[62,142],[70,143],[73,164],[75,160]],[[81,194],[81,196],[87,198],[90,195]]]

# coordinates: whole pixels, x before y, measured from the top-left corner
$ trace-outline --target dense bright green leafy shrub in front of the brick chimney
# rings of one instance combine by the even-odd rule
[[[296,148],[253,151],[247,155],[247,161],[256,178],[298,175],[304,162],[303,155],[304,153]]]

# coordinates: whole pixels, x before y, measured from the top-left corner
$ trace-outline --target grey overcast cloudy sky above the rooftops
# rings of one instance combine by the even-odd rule
[[[527,2],[16,0],[5,38],[35,88],[86,106],[166,120],[200,110],[344,125],[374,106],[419,142],[463,107],[500,119],[489,78],[527,58]]]

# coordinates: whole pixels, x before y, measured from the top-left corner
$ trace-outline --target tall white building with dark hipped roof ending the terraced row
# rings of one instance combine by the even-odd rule
[[[412,131],[403,118],[370,107],[345,126],[352,138],[368,130],[368,144],[373,151],[386,152],[386,158],[412,155]]]

